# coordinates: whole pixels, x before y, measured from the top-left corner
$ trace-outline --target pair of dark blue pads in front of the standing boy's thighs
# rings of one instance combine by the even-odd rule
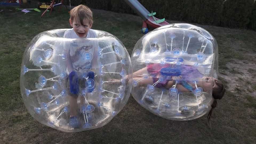
[[[86,78],[88,77],[88,79],[94,79],[94,72],[89,71],[85,77]],[[78,96],[79,85],[81,85],[81,88],[85,88],[85,82],[86,82],[86,79],[79,79],[78,73],[75,72],[75,71],[72,71],[69,74],[70,93],[75,94],[75,95]],[[88,92],[90,93],[93,90],[94,90],[94,88],[93,89],[88,89]]]

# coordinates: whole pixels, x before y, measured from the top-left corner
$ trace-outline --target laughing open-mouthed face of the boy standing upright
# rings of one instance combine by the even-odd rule
[[[93,25],[92,23],[90,24],[89,20],[83,19],[83,25],[80,22],[76,21],[71,21],[69,19],[70,26],[73,27],[75,33],[80,37],[80,38],[85,38],[87,36],[87,33],[91,26]]]

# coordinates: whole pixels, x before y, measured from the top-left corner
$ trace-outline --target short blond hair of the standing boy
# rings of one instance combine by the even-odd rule
[[[81,23],[81,25],[83,25],[83,20],[87,19],[91,25],[93,23],[93,12],[89,9],[89,7],[79,5],[70,11],[70,19],[71,22],[75,21]]]

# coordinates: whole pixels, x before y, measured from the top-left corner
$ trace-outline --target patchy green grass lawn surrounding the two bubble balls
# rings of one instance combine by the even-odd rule
[[[3,7],[0,7],[3,9]],[[255,143],[256,32],[199,25],[219,47],[220,78],[227,86],[212,115],[179,122],[158,117],[131,96],[107,125],[79,133],[64,133],[34,120],[23,104],[19,75],[22,55],[32,38],[46,30],[70,28],[68,10],[41,18],[32,11],[0,12],[0,143]],[[93,10],[93,29],[119,38],[132,53],[142,34],[140,17]],[[172,21],[170,21],[172,23]]]

